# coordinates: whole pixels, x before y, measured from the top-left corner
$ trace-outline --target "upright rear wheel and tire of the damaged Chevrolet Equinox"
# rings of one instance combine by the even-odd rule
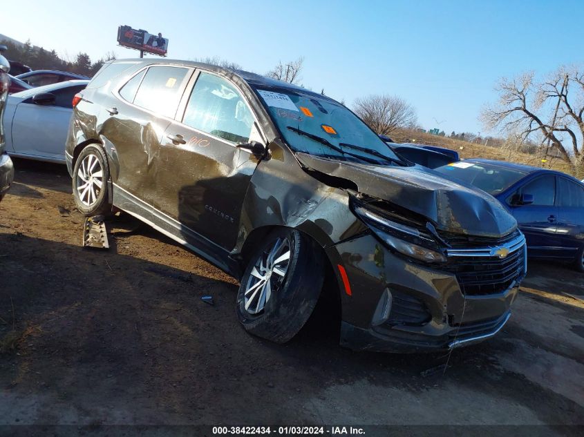
[[[77,209],[88,217],[108,215],[109,165],[104,149],[98,144],[86,146],[73,168],[73,197]]]

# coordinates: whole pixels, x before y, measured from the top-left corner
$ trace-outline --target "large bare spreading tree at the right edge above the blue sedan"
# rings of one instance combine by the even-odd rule
[[[499,101],[481,113],[484,125],[521,135],[539,135],[546,154],[559,155],[574,173],[584,166],[584,72],[558,68],[536,81],[533,72],[501,79]],[[551,149],[551,150],[550,150]]]

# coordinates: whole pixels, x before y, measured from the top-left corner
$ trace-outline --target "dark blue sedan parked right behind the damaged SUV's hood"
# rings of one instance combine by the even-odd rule
[[[496,197],[516,218],[531,258],[574,263],[584,272],[584,184],[558,171],[489,159],[435,168]]]

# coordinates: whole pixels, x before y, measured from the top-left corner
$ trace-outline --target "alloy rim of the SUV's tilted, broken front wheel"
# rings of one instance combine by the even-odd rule
[[[290,251],[288,239],[278,238],[271,249],[260,254],[245,287],[244,306],[247,313],[261,313],[272,294],[279,291],[290,264]]]

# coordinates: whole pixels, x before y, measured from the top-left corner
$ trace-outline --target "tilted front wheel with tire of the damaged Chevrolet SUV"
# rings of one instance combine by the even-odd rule
[[[319,300],[323,285],[321,250],[294,229],[278,229],[249,258],[237,293],[243,328],[277,343],[300,331]]]

